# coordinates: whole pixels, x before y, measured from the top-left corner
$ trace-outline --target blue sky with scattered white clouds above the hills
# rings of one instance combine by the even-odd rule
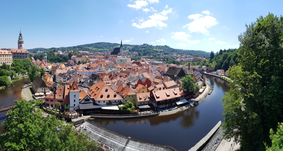
[[[245,24],[283,1],[1,1],[0,48],[69,47],[96,42],[168,45],[217,52],[238,48]],[[281,13],[281,14],[280,14]]]

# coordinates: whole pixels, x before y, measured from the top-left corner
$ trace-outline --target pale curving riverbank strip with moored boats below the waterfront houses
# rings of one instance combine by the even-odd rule
[[[188,109],[188,108],[194,106],[193,104],[198,104],[208,95],[209,90],[210,90],[210,85],[207,84],[207,87],[204,89],[204,92],[202,92],[202,94],[200,94],[197,98],[190,99],[188,101],[189,102],[188,104],[185,104],[182,107],[171,107],[171,108],[168,108],[168,109],[165,109],[165,110],[159,109],[158,111],[160,111],[160,114],[158,116],[175,114],[175,113],[182,111],[181,108],[183,108],[183,110],[185,110],[185,109]]]

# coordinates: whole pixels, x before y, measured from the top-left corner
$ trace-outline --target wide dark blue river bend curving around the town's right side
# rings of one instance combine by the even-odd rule
[[[196,107],[166,115],[140,119],[95,119],[92,122],[118,134],[137,140],[170,146],[175,150],[189,150],[216,125],[223,121],[224,92],[229,83],[214,76],[205,75],[206,83],[214,86],[211,95]]]

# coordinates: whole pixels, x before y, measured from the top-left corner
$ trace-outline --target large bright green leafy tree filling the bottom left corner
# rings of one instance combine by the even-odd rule
[[[59,121],[55,115],[42,119],[38,104],[42,101],[15,101],[16,106],[8,111],[2,123],[0,149],[9,150],[88,150],[97,149],[94,142],[88,141],[85,133],[76,133],[73,124]],[[59,131],[60,130],[60,131]]]

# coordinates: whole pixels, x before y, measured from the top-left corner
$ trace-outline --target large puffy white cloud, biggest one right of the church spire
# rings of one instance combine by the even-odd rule
[[[202,14],[193,14],[189,15],[188,18],[194,19],[194,21],[184,25],[183,28],[187,27],[190,32],[200,32],[203,34],[209,34],[209,31],[207,29],[219,24],[216,18],[208,15],[202,17]]]

